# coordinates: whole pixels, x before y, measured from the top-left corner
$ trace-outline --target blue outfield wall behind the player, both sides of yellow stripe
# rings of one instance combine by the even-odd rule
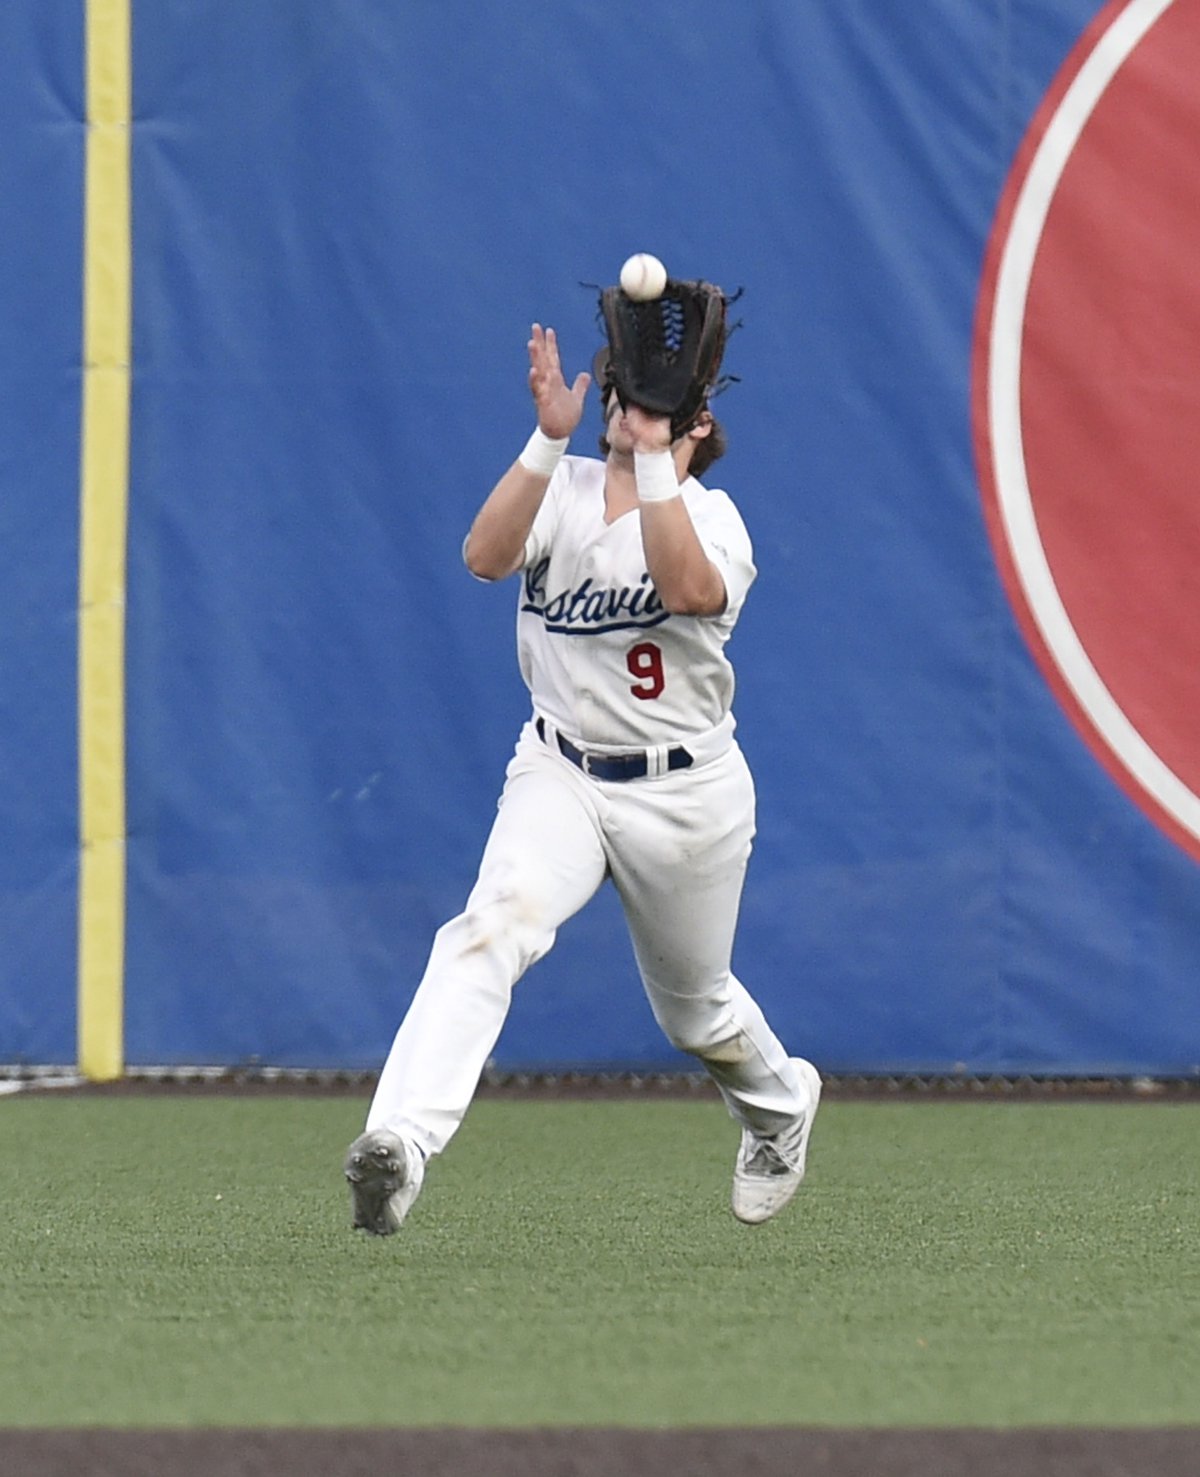
[[[1197,863],[1039,671],[972,442],[989,233],[1100,9],[134,0],[132,1065],[381,1062],[528,707],[460,546],[529,323],[585,368],[650,250],[743,288],[739,975],[828,1071],[1200,1071]],[[7,1060],[74,1052],[74,10],[0,22]],[[612,895],[497,1060],[681,1063]]]

